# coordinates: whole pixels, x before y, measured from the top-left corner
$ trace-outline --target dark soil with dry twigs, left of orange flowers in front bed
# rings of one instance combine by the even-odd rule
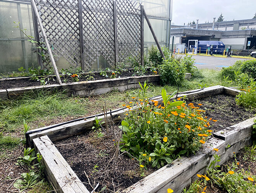
[[[58,141],[55,144],[90,192],[92,188],[88,183],[86,174],[93,188],[96,187],[97,183],[100,183],[97,191],[105,188],[103,192],[116,192],[133,185],[142,179],[142,176],[156,171],[156,169],[151,168],[147,170],[140,168],[136,158],[128,157],[124,154],[118,156],[114,167],[115,159],[113,159],[113,156],[116,146],[112,130],[111,128],[111,134],[109,135],[102,132],[105,135],[102,138],[98,138],[99,136],[97,135],[99,134],[97,132],[91,132]],[[118,135],[118,132],[116,134]],[[74,144],[74,142],[81,143]],[[115,168],[114,171],[113,168]]]

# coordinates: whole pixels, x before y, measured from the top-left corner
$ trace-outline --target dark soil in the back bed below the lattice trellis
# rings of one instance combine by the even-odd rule
[[[152,74],[151,71],[147,71],[145,75],[150,75]],[[128,77],[128,76],[135,76],[133,70],[127,70],[123,71],[121,74],[117,74],[116,78],[123,78],[123,77]],[[100,75],[99,72],[95,73],[86,73],[86,74],[80,74],[79,75],[79,81],[88,81],[88,80],[102,80],[102,79],[109,79],[111,76],[110,73],[107,73],[108,77]],[[136,75],[138,76],[138,75]],[[72,83],[73,79],[71,76],[61,76],[61,81],[62,83]],[[58,84],[56,77],[55,76],[46,76],[45,77],[45,82],[47,82],[47,85],[52,85],[52,84]],[[28,87],[28,86],[40,86],[41,83],[38,80],[31,80],[31,78],[24,78],[24,79],[17,79],[17,80],[0,80],[0,90],[1,89],[9,89],[9,88],[20,88],[20,87]]]

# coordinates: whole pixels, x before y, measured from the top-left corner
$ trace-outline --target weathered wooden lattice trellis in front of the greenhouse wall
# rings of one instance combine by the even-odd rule
[[[127,56],[140,61],[140,53],[143,51],[141,46],[143,26],[138,2],[117,0],[115,15],[112,0],[33,1],[36,3],[55,61],[63,57],[67,63],[74,67],[81,65],[85,70],[89,70],[100,55],[111,66],[115,64],[115,54],[118,54],[118,62],[123,61]],[[34,25],[38,25],[37,20],[35,18],[33,20]],[[114,36],[115,30],[117,38]],[[39,26],[37,33],[39,41],[44,42],[42,29]],[[47,50],[44,52],[46,60],[43,61],[43,66],[48,68],[50,60],[47,60],[49,58]]]

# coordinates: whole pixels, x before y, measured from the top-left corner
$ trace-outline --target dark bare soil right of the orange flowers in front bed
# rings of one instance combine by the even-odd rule
[[[225,129],[232,125],[238,124],[246,119],[256,117],[256,109],[247,109],[240,107],[235,103],[235,97],[228,95],[214,95],[210,97],[200,98],[190,101],[195,107],[200,107],[201,110],[206,110],[203,115],[209,120],[217,120],[209,122],[210,129],[213,132]],[[202,104],[201,106],[198,105]]]

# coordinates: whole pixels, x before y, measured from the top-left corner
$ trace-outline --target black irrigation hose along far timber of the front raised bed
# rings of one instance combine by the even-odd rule
[[[200,90],[196,90],[196,91],[186,91],[186,92],[181,92],[181,93],[183,93],[183,94],[184,94],[184,93],[194,93],[194,92],[197,92],[197,91],[201,91],[201,90],[203,90],[203,89],[204,89],[204,87],[201,88]],[[178,94],[181,94],[181,93],[178,93]],[[155,96],[155,97],[160,97],[160,96],[162,96],[162,95],[158,95],[158,96]],[[152,98],[155,98],[155,97],[151,97],[151,98],[149,98],[149,100],[152,99]],[[126,107],[118,108],[118,109],[116,109],[116,110],[112,110],[112,111],[107,112],[107,114],[111,114],[111,113],[117,112],[117,111],[119,111],[119,110],[123,110],[123,109],[125,109],[125,108],[126,108]],[[40,132],[42,132],[42,131],[44,131],[44,130],[47,130],[47,129],[52,129],[52,128],[54,128],[54,127],[59,127],[59,126],[61,126],[61,125],[73,123],[73,122],[80,121],[80,120],[84,120],[84,119],[90,119],[90,118],[97,117],[97,116],[101,116],[101,115],[104,115],[104,113],[99,113],[99,114],[97,114],[97,115],[92,115],[92,116],[89,116],[89,117],[83,117],[83,118],[80,118],[80,119],[70,120],[70,121],[67,121],[67,122],[60,123],[60,124],[51,125],[51,126],[48,126],[48,127],[43,128],[43,129],[34,129],[34,130],[30,130],[30,131],[26,132],[26,134],[25,134],[25,136],[26,136],[26,146],[28,147],[28,135],[30,135],[30,134],[33,134],[33,133],[40,133]]]

